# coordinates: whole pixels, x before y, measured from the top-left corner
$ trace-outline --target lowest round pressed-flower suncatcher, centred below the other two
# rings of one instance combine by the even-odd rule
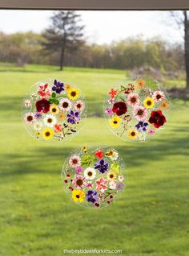
[[[66,159],[62,180],[75,203],[102,208],[115,202],[125,186],[125,164],[118,151],[108,147],[78,149]]]

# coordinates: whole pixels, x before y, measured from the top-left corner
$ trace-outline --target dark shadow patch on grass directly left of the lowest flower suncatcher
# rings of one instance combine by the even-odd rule
[[[27,152],[27,155],[16,153],[1,155],[2,171],[0,172],[0,176],[6,178],[30,174],[60,174],[64,159],[73,150],[70,147],[64,148],[63,151],[52,148],[46,151],[46,148],[42,148],[31,151],[30,154]],[[5,180],[2,178],[0,182],[3,183]]]

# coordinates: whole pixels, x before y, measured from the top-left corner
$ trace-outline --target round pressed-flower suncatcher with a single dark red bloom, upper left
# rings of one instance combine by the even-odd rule
[[[86,116],[81,92],[64,81],[42,81],[22,102],[26,129],[44,141],[65,141],[79,130]]]

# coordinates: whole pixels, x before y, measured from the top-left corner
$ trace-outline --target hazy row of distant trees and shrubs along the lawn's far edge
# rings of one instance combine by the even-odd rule
[[[34,32],[6,35],[0,33],[0,62],[14,64],[59,65],[61,48],[46,52],[46,38]],[[64,52],[66,66],[133,69],[143,65],[162,72],[184,71],[184,49],[163,39],[127,38],[110,44],[83,42],[73,53]]]

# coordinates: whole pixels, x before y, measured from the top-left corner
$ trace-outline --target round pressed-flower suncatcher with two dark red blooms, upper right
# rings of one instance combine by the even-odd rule
[[[123,140],[147,141],[167,123],[170,101],[157,81],[139,78],[112,88],[104,105],[111,130]]]

